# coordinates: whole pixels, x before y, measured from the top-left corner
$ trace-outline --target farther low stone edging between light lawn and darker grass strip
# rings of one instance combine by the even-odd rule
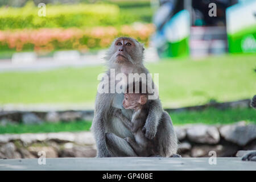
[[[204,110],[208,107],[214,107],[217,109],[228,108],[247,108],[250,107],[250,100],[240,100],[233,102],[209,102],[205,105],[182,107],[177,109],[164,109],[168,113],[191,111],[191,110]],[[24,123],[24,124],[36,124],[42,122],[69,122],[69,121],[92,121],[94,115],[93,110],[63,110],[63,111],[48,111],[48,108],[40,107],[39,110],[26,110],[26,107],[20,108],[18,111],[14,108],[1,108],[0,105],[0,125],[6,125],[7,123]]]

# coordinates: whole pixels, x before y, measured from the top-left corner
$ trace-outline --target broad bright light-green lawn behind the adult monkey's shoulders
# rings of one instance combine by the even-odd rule
[[[159,73],[164,107],[251,98],[256,94],[256,55],[163,60],[147,64]],[[0,104],[88,104],[93,107],[102,67],[0,73]]]

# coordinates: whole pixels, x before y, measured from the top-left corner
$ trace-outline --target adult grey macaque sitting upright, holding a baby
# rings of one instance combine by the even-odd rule
[[[109,83],[115,79],[110,79],[110,69],[115,70],[115,75],[118,73],[148,73],[148,70],[143,65],[144,48],[141,43],[132,38],[121,37],[114,40],[109,48],[106,56],[109,76]],[[154,83],[153,83],[154,84]],[[154,85],[152,85],[154,87]],[[126,137],[133,138],[133,134],[129,131],[112,113],[113,109],[122,109],[123,115],[131,121],[133,110],[123,109],[123,93],[113,93],[110,90],[108,93],[97,93],[94,109],[94,118],[92,123],[92,131],[96,139],[97,157],[115,157],[115,156],[138,156],[130,144],[126,142]],[[163,127],[167,127],[168,133],[164,133],[163,143],[160,147],[163,156],[171,156],[176,154],[177,139],[172,123],[159,122],[162,117],[163,109],[159,98],[148,100],[150,108],[148,116],[143,127],[145,136],[148,139],[155,137],[156,133],[161,133]]]

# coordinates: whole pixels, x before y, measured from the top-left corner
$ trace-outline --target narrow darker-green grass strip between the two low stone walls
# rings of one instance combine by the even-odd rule
[[[256,124],[254,109],[206,109],[203,111],[184,111],[171,113],[174,125],[188,123],[228,124],[238,121],[252,122]],[[48,133],[59,131],[89,131],[92,122],[59,122],[43,123],[42,125],[7,125],[0,126],[0,134],[5,133]]]

